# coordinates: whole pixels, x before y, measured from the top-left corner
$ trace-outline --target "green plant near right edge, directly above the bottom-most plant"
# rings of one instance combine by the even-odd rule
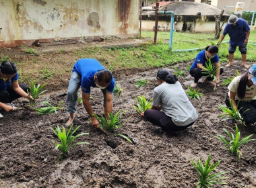
[[[238,148],[240,146],[242,146],[243,144],[247,143],[247,142],[251,142],[253,140],[256,140],[256,139],[249,139],[249,138],[251,138],[251,136],[253,136],[253,134],[251,134],[251,135],[243,138],[242,140],[240,140],[240,132],[238,131],[237,126],[236,126],[236,134],[235,135],[228,132],[228,130],[226,130],[226,129],[223,129],[223,130],[224,130],[224,132],[226,132],[226,134],[228,134],[228,137],[230,138],[230,141],[228,141],[221,134],[217,134],[216,138],[218,138],[218,140],[220,140],[221,142],[226,144],[226,146],[228,147],[228,151],[232,154],[236,154],[238,156],[238,158],[240,158],[242,156],[242,152]]]

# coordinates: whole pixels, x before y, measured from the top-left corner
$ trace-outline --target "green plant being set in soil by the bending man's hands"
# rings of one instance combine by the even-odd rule
[[[109,120],[107,120],[105,117],[103,117],[102,115],[100,115],[100,117],[96,114],[94,114],[94,117],[97,118],[100,127],[103,128],[104,130],[107,130],[108,132],[121,136],[123,138],[125,138],[125,140],[127,140],[128,142],[131,142],[131,144],[133,143],[127,136],[123,135],[123,134],[117,134],[114,133],[115,129],[121,128],[121,126],[123,126],[123,120],[121,120],[121,110],[117,111],[117,113],[114,115],[112,112],[108,114],[108,118]]]

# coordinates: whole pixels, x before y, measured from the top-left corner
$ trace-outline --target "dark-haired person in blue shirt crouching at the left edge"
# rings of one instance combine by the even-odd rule
[[[15,107],[12,101],[20,97],[28,98],[27,90],[29,88],[18,82],[18,72],[16,64],[9,61],[3,61],[0,65],[0,108],[4,111],[13,111]],[[33,100],[33,97],[30,96]],[[0,117],[3,115],[0,114]]]

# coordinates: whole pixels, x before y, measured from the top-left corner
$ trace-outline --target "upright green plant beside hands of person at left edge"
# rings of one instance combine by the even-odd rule
[[[47,90],[43,90],[44,89],[44,85],[40,85],[38,84],[37,86],[35,85],[34,81],[32,81],[30,83],[30,92],[27,91],[28,93],[28,99],[30,101],[30,107],[32,107],[35,103],[35,100],[38,99],[38,97],[40,95],[42,95],[43,93],[45,93]],[[31,93],[31,94],[30,94]],[[30,99],[30,96],[33,97],[34,100]]]

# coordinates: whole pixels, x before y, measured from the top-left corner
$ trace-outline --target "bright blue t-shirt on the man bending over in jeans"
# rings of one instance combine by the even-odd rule
[[[100,71],[106,69],[96,59],[82,58],[75,62],[72,71],[81,75],[81,89],[84,93],[89,94],[91,87],[96,87],[94,83],[94,75]],[[106,90],[113,93],[115,87],[114,78],[110,81],[110,84],[106,87]]]

